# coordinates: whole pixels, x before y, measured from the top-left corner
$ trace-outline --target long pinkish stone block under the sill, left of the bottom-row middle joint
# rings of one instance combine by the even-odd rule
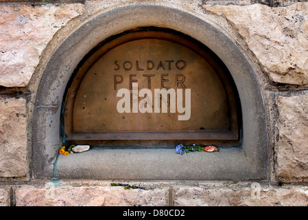
[[[165,190],[122,186],[23,186],[15,191],[16,206],[165,206]]]

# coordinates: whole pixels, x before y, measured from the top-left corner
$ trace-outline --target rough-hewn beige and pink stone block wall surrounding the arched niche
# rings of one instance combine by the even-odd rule
[[[141,2],[220,27],[254,62],[268,111],[268,179],[35,179],[33,97],[56,48],[93,14]],[[308,3],[292,0],[0,1],[0,206],[307,206]],[[125,181],[125,180],[119,180]],[[127,182],[127,181],[126,181]]]

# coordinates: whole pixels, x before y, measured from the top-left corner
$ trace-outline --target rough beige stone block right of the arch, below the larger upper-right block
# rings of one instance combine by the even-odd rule
[[[308,94],[278,96],[276,173],[284,178],[308,177]]]

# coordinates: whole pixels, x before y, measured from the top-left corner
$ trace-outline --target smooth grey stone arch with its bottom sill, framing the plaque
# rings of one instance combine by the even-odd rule
[[[159,26],[188,34],[209,47],[228,67],[241,100],[241,148],[226,148],[220,151],[219,156],[209,155],[206,159],[195,154],[185,162],[169,149],[164,150],[163,155],[155,149],[114,150],[112,155],[117,156],[112,161],[117,163],[117,167],[108,166],[108,152],[101,150],[61,159],[57,155],[62,143],[62,98],[75,67],[95,45],[109,36],[146,26]],[[190,12],[175,8],[126,5],[98,13],[81,25],[58,47],[46,65],[36,91],[32,127],[32,170],[37,178],[241,180],[267,177],[266,111],[254,67],[244,52],[220,29]],[[128,151],[134,153],[127,154]],[[89,163],[93,153],[96,160]],[[67,173],[66,167],[76,160],[78,164]],[[123,162],[131,161],[135,163],[129,168],[124,166]],[[194,169],[196,162],[200,164],[198,169]],[[215,166],[209,170],[213,164]],[[153,166],[155,170],[151,169]]]

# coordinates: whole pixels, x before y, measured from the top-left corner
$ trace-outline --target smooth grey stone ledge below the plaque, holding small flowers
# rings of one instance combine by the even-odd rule
[[[74,164],[72,166],[72,164]],[[53,177],[58,179],[265,179],[241,148],[179,155],[174,148],[92,148],[58,155]]]

